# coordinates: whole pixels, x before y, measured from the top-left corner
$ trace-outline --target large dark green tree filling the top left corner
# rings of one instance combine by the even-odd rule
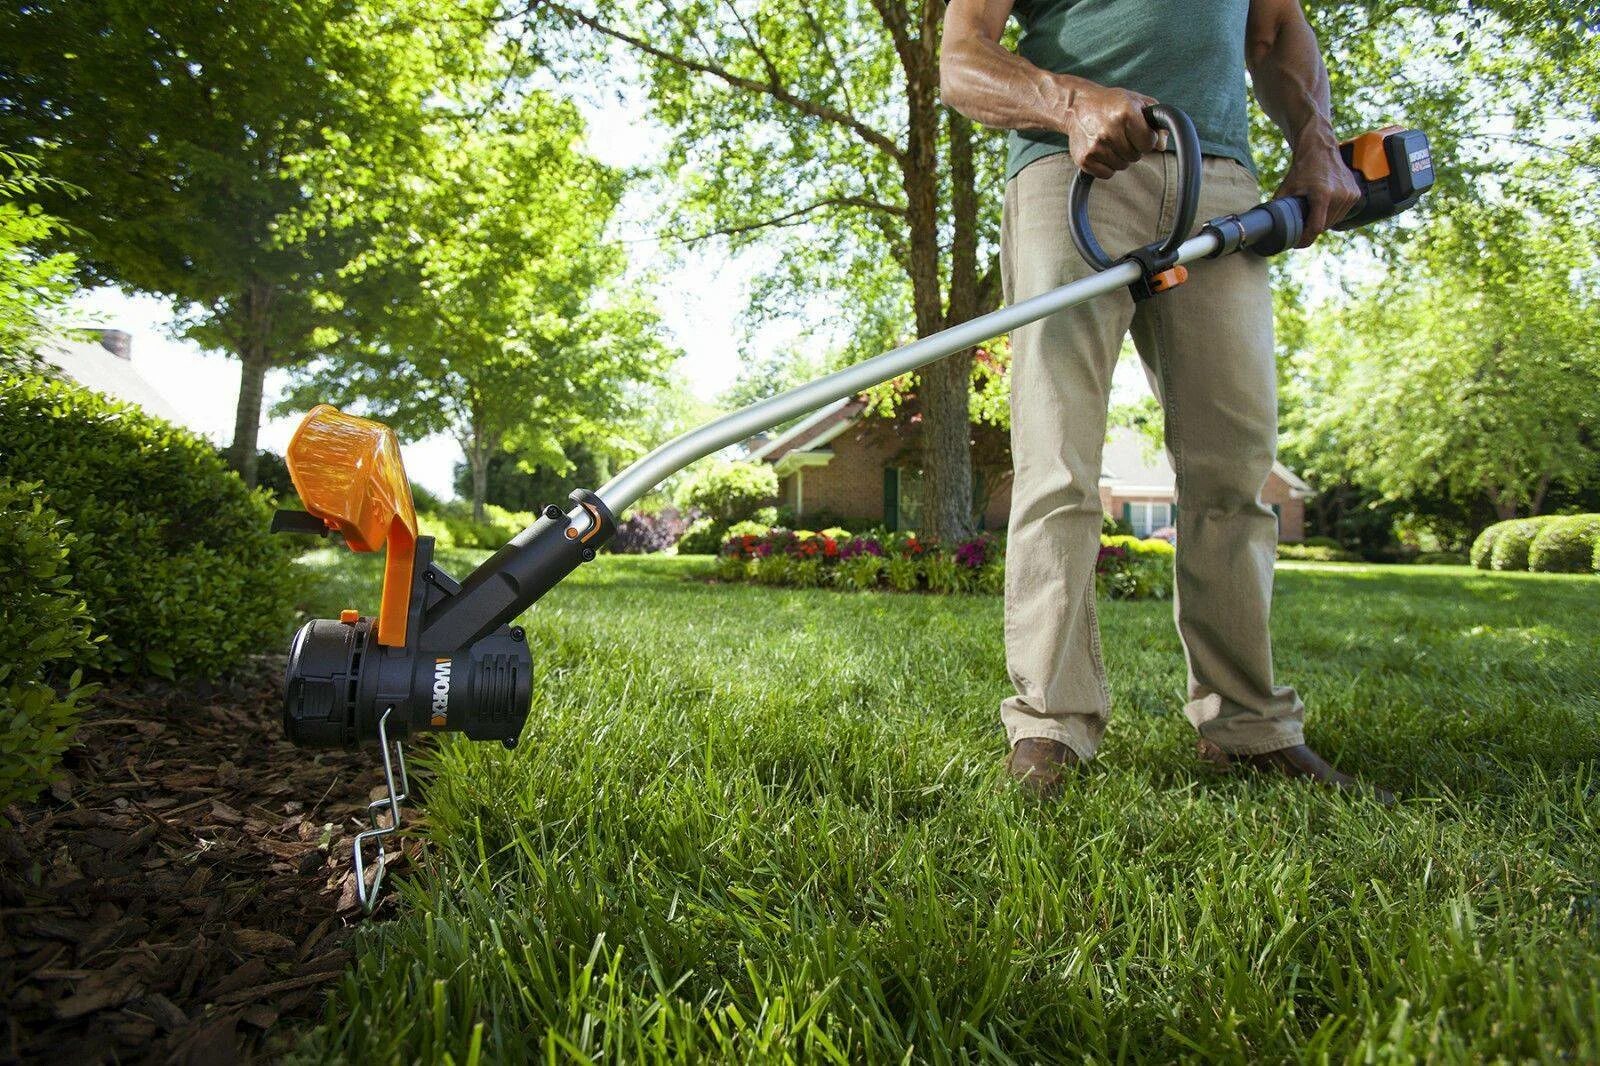
[[[272,367],[326,338],[315,293],[366,234],[299,229],[318,186],[403,168],[446,61],[485,26],[454,5],[42,0],[0,13],[0,142],[85,195],[50,197],[88,282],[168,296],[242,363],[230,461],[254,480]],[[291,235],[293,234],[293,235]]]

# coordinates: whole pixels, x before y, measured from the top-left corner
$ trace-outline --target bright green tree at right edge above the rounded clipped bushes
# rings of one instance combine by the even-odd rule
[[[1501,519],[1600,477],[1594,232],[1459,208],[1408,258],[1312,320],[1290,424],[1312,472],[1389,499],[1480,498]]]

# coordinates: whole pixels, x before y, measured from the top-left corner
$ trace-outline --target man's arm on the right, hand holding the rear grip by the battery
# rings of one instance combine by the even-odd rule
[[[1301,195],[1310,205],[1299,242],[1307,248],[1355,206],[1362,190],[1339,158],[1328,67],[1299,0],[1250,2],[1245,59],[1261,109],[1283,131],[1293,152],[1277,195]]]

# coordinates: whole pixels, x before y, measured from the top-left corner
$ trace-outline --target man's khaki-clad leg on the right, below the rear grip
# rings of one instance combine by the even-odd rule
[[[1205,160],[1202,219],[1243,211],[1259,195],[1238,163]],[[1278,415],[1266,261],[1234,254],[1190,266],[1186,285],[1139,306],[1133,335],[1165,408],[1178,475],[1174,611],[1189,720],[1232,755],[1302,744],[1304,707],[1272,679],[1278,525],[1261,490]]]

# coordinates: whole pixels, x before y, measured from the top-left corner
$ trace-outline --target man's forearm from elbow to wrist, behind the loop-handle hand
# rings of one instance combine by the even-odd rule
[[[992,40],[947,42],[939,94],[973,122],[1000,130],[1066,133],[1083,78],[1040,70]]]

